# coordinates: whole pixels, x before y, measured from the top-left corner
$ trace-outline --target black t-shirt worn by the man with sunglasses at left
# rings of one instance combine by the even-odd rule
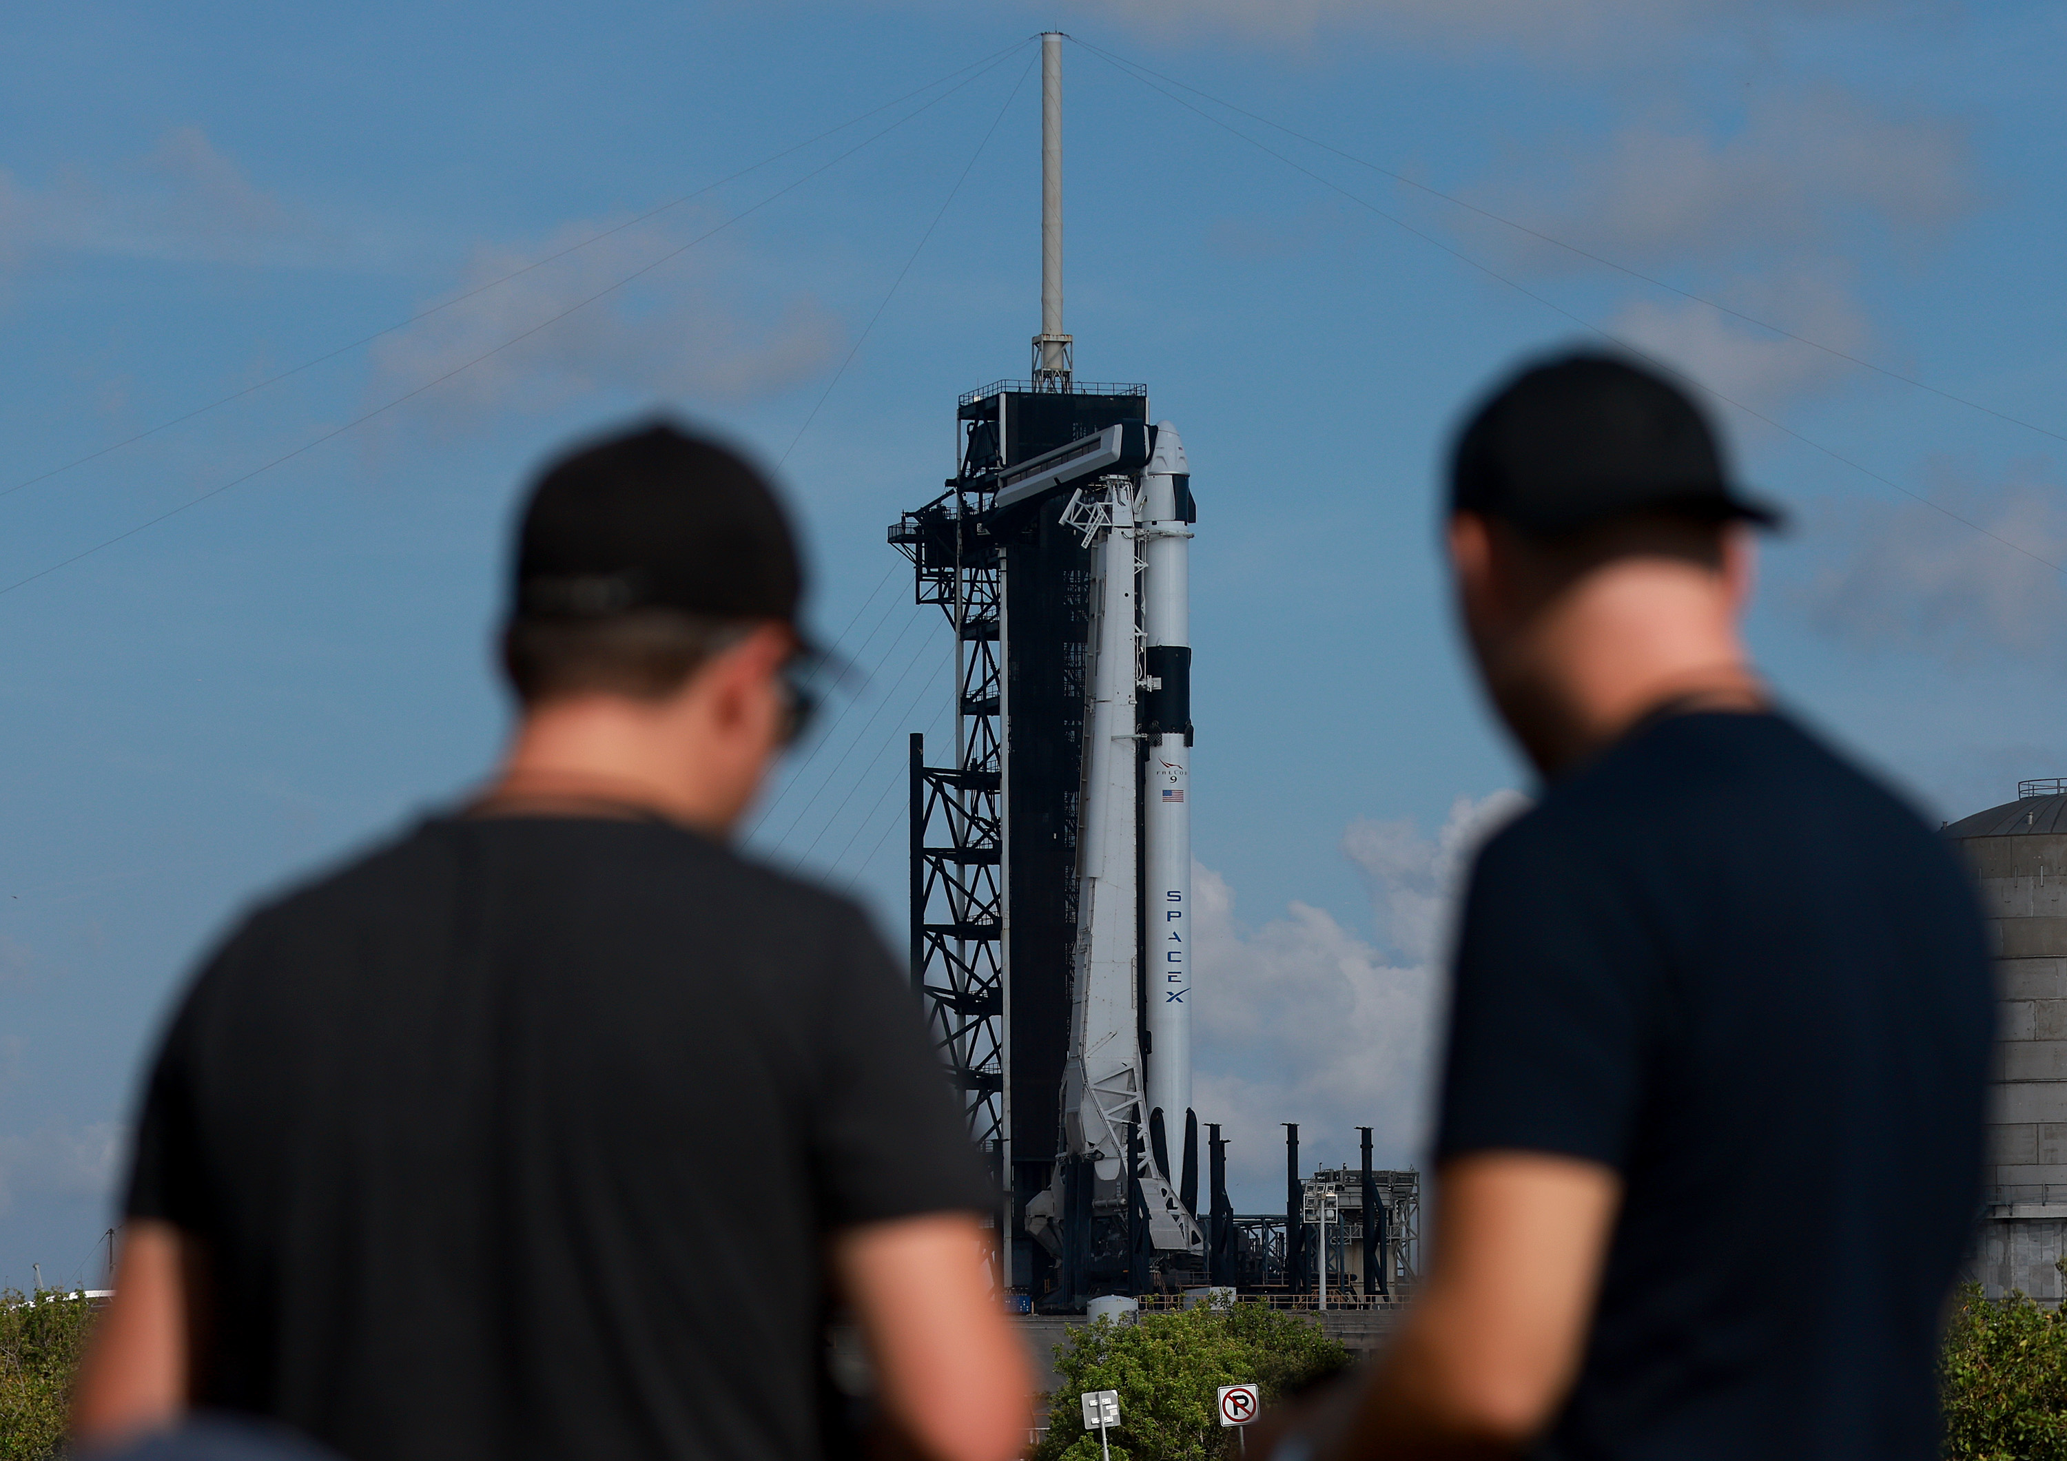
[[[825,1238],[988,1182],[860,909],[695,833],[432,820],[252,915],[151,1073],[205,1399],[356,1461],[821,1455]]]

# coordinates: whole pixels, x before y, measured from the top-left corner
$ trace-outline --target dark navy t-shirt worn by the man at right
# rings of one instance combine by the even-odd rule
[[[1676,715],[1478,858],[1439,1157],[1625,1180],[1544,1457],[1937,1457],[1991,973],[1949,847],[1778,715]]]

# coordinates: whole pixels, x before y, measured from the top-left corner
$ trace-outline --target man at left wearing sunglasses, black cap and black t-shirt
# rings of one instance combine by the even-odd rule
[[[711,442],[544,475],[498,777],[250,915],[180,1004],[83,1438],[209,1405],[353,1461],[812,1461],[843,1298],[920,1451],[1019,1451],[992,1192],[905,977],[726,845],[802,711],[800,591]]]

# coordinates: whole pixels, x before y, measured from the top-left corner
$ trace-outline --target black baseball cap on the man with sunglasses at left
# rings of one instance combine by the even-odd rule
[[[670,422],[550,463],[517,533],[521,618],[664,608],[796,626],[802,597],[796,533],[767,475]]]

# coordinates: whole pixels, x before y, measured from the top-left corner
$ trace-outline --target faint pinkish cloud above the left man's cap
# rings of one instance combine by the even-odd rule
[[[535,246],[484,244],[457,291],[502,279],[606,227],[608,219],[591,219]],[[742,300],[738,285],[709,285],[715,269],[695,252],[610,289],[695,234],[692,223],[668,231],[628,227],[384,337],[374,347],[370,391],[387,399],[459,370],[418,409],[434,409],[446,428],[471,428],[502,411],[548,409],[597,388],[736,403],[794,386],[837,358],[845,327],[812,296],[771,289],[779,298]],[[585,304],[593,296],[601,298]]]

